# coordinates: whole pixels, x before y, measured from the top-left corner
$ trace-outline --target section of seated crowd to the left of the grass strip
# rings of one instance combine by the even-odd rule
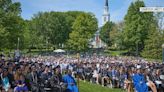
[[[60,65],[47,65],[33,58],[0,59],[0,92],[78,92],[72,67],[61,73]]]

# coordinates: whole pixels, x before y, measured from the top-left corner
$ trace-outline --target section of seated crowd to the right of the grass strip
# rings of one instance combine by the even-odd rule
[[[88,62],[89,61],[89,62]],[[128,92],[164,92],[164,64],[134,57],[84,58],[77,69],[81,79],[126,89]]]

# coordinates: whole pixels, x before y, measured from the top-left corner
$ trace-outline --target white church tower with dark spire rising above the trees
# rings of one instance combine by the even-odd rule
[[[105,23],[108,21],[110,21],[109,6],[108,0],[105,0],[104,14],[102,16],[102,26],[105,25]]]

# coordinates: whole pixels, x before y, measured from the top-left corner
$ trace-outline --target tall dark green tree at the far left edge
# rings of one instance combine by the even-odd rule
[[[18,37],[23,39],[23,19],[20,17],[20,13],[20,3],[13,3],[12,0],[0,1],[0,25],[5,29],[3,33],[7,34],[5,43],[0,44],[1,47],[14,49]]]

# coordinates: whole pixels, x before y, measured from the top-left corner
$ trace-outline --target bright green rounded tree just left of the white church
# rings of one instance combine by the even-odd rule
[[[85,51],[88,48],[89,39],[98,28],[97,19],[93,14],[80,14],[73,23],[73,31],[69,35],[68,47],[74,51]]]

